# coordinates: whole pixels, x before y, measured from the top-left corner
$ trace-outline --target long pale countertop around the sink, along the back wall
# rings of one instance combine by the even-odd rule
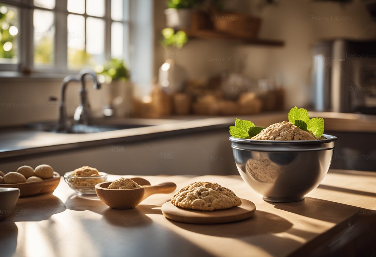
[[[376,116],[353,113],[310,112],[312,117],[325,119],[325,130],[337,132],[376,132]],[[287,112],[269,112],[257,115],[237,116],[259,126],[267,127],[287,120]],[[188,132],[225,129],[235,121],[235,116],[176,116],[169,119],[123,119],[136,123],[152,124],[148,127],[114,130],[87,134],[64,134],[21,128],[0,130],[0,159],[69,150],[79,147],[141,141]]]

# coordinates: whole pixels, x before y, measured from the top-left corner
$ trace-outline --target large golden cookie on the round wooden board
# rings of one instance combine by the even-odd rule
[[[171,203],[185,209],[212,211],[241,205],[241,200],[217,183],[195,182],[176,192]]]

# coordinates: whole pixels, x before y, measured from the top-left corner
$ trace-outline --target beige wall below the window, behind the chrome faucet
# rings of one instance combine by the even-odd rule
[[[59,103],[49,102],[49,98],[56,97],[60,101],[60,83],[60,79],[1,79],[0,126],[57,120]],[[67,88],[67,113],[70,116],[79,104],[79,86],[79,83],[70,83]],[[100,115],[106,101],[106,85],[95,90],[88,82],[86,87],[92,113]]]

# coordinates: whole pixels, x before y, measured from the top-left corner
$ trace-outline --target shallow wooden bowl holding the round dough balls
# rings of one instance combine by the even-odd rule
[[[21,191],[20,197],[28,195],[39,195],[53,192],[60,182],[60,175],[58,172],[53,172],[52,178],[44,179],[43,181],[32,181],[18,184],[0,184],[0,187],[14,187]]]

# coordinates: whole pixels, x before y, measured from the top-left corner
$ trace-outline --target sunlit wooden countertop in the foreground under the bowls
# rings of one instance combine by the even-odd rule
[[[373,172],[331,170],[305,200],[279,204],[263,201],[238,175],[144,178],[152,184],[173,181],[178,189],[199,180],[217,182],[253,201],[256,213],[229,224],[184,224],[161,213],[173,194],[152,195],[134,209],[116,210],[77,197],[62,180],[53,195],[20,198],[15,215],[0,221],[1,255],[325,256],[321,246],[328,254],[359,224],[366,240],[376,240]],[[362,256],[374,254],[372,247],[367,245],[369,255]]]

